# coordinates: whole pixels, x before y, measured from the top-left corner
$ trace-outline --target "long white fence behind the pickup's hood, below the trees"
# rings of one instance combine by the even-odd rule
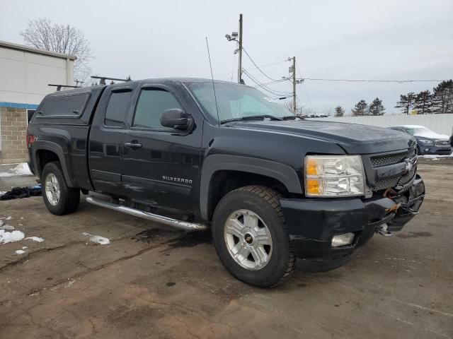
[[[421,125],[440,134],[451,136],[453,132],[453,114],[397,115],[384,114],[379,117],[329,117],[316,120],[351,122],[353,124],[389,127],[395,125]]]

